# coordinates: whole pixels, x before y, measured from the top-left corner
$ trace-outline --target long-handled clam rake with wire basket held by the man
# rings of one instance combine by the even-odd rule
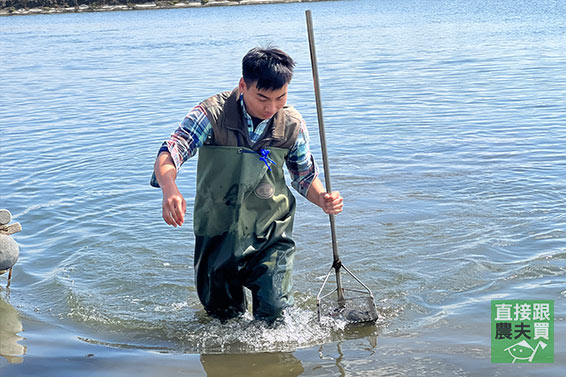
[[[316,111],[318,115],[318,130],[320,134],[320,147],[322,150],[322,160],[324,165],[324,179],[326,183],[326,191],[332,192],[330,187],[330,171],[328,166],[328,152],[326,149],[326,137],[324,133],[324,120],[322,116],[322,101],[320,99],[320,85],[318,81],[318,66],[316,60],[316,50],[314,44],[314,32],[312,26],[311,11],[306,11],[307,31],[309,36],[309,47],[312,63],[312,75],[314,83],[314,91],[316,97]],[[322,321],[323,317],[345,320],[347,323],[364,323],[374,322],[377,320],[377,309],[371,290],[356,275],[354,275],[346,266],[342,264],[338,255],[338,245],[336,243],[336,226],[334,223],[334,215],[329,215],[330,230],[332,233],[332,254],[334,262],[332,267],[326,274],[324,283],[316,296],[318,307],[318,320]],[[336,289],[323,295],[324,288],[332,270],[336,272]],[[358,289],[345,289],[342,286],[341,270],[346,271],[361,287]],[[363,288],[363,289],[362,289]],[[345,293],[352,293],[353,296],[345,297]]]

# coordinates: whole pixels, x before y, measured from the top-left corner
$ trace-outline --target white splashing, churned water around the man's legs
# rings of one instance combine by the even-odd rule
[[[73,313],[75,320],[77,313]],[[85,311],[84,314],[85,321],[93,320],[92,311]],[[185,321],[121,322],[113,326],[111,331],[126,334],[130,337],[128,340],[80,339],[116,348],[153,349],[171,353],[294,352],[344,338],[364,337],[370,333],[377,335],[379,330],[376,324],[350,327],[341,318],[324,317],[319,322],[316,311],[300,306],[288,308],[272,325],[255,320],[249,312],[236,319],[220,321],[209,317],[204,311],[193,313]],[[112,333],[105,334],[105,337],[111,339]]]

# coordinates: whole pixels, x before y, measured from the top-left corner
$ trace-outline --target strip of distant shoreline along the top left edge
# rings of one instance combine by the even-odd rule
[[[284,3],[313,3],[320,1],[336,0],[210,0],[206,3],[200,1],[148,1],[143,4],[120,4],[120,5],[100,5],[89,6],[86,4],[77,7],[42,7],[42,8],[4,8],[0,9],[0,16],[29,16],[36,14],[63,14],[63,13],[85,13],[85,12],[116,12],[130,10],[150,10],[150,9],[176,9],[176,8],[205,8],[218,6],[239,6],[239,5],[263,5],[263,4],[284,4]]]

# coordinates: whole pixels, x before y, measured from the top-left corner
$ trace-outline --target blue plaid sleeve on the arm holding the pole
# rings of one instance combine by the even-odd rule
[[[302,119],[297,141],[287,155],[286,164],[291,186],[306,198],[313,180],[318,176],[318,166],[310,152],[309,133]]]

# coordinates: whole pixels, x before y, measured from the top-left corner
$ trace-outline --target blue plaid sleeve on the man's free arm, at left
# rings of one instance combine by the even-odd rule
[[[197,149],[204,145],[211,133],[212,125],[206,116],[206,111],[198,105],[185,116],[169,139],[163,142],[158,155],[164,151],[169,152],[175,164],[175,169],[179,171],[183,163],[193,157],[197,153]],[[151,177],[150,184],[159,187],[155,179],[155,172]]]

